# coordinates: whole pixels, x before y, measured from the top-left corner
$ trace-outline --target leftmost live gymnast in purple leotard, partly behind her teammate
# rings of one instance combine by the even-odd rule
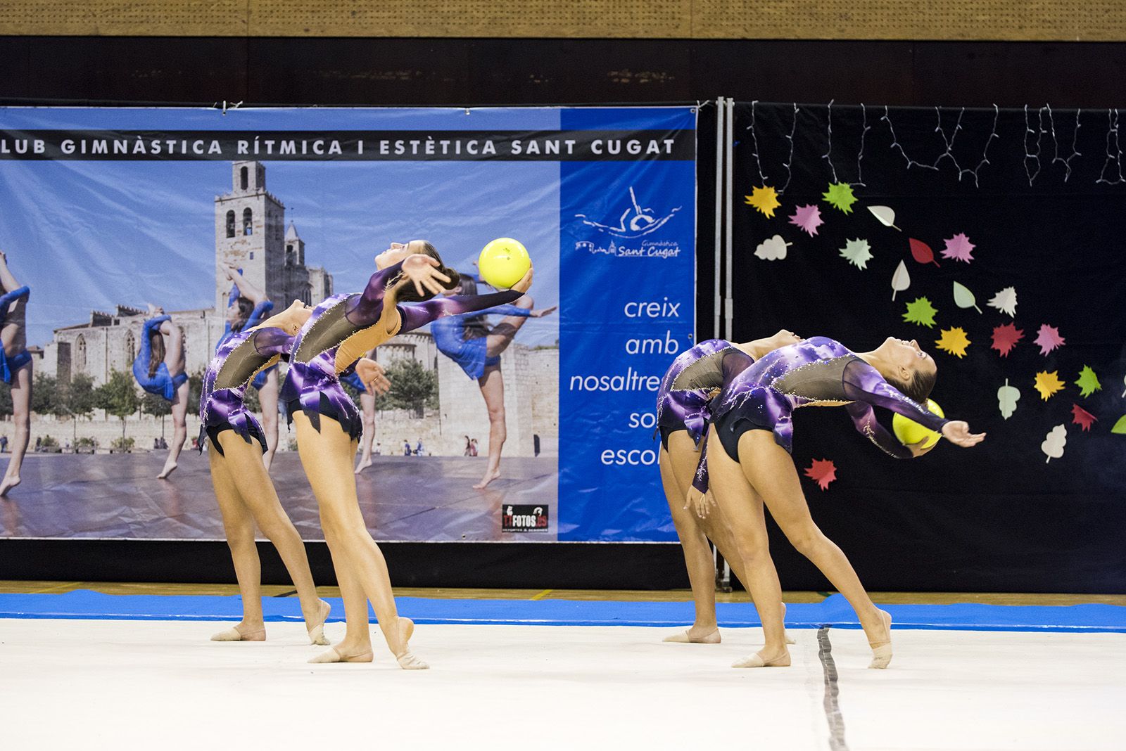
[[[324,619],[329,604],[319,599],[309,570],[305,545],[278,500],[277,490],[261,461],[267,450],[262,426],[243,404],[257,374],[287,356],[293,336],[309,319],[311,308],[300,300],[261,325],[225,337],[204,376],[199,398],[199,451],[211,442],[207,458],[212,485],[223,515],[226,544],[242,595],[242,621],[212,636],[216,642],[266,640],[262,621],[261,563],[254,544],[254,525],[277,548],[297,589],[309,640],[328,644]],[[253,440],[251,440],[253,438]]]

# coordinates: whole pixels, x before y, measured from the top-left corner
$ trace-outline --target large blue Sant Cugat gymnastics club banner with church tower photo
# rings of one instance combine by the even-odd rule
[[[0,535],[222,539],[196,413],[240,306],[358,292],[377,253],[414,238],[475,282],[462,293],[490,292],[476,256],[513,237],[535,265],[530,316],[396,336],[374,354],[391,392],[347,387],[373,535],[674,539],[651,435],[655,384],[691,346],[695,121],[685,107],[0,109],[0,280],[30,288],[5,322],[26,342],[6,334],[0,450],[28,410],[30,445]],[[159,370],[150,343],[170,347],[163,396],[140,388]],[[284,378],[248,404],[283,504],[320,540]]]

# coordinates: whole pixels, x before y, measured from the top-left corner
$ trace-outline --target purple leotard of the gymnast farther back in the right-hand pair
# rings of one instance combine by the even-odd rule
[[[688,431],[692,443],[698,445],[707,429],[708,404],[715,391],[753,363],[753,358],[726,340],[707,340],[677,355],[656,392],[656,429],[661,434],[661,445],[668,450],[669,435],[677,431]],[[694,365],[692,378],[681,379],[680,376]]]

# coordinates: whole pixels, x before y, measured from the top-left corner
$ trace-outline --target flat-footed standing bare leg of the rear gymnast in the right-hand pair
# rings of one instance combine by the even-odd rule
[[[692,445],[687,431],[677,431],[669,436],[669,450],[661,447],[659,464],[664,497],[672,513],[672,524],[680,537],[688,568],[688,581],[692,588],[696,605],[696,622],[685,634],[669,636],[664,641],[689,641],[715,644],[720,642],[720,628],[715,621],[715,560],[708,546],[704,530],[697,523],[696,514],[685,508],[687,488],[681,478],[690,481],[696,470],[699,451]],[[682,465],[682,467],[680,467]],[[679,472],[677,470],[680,470]]]

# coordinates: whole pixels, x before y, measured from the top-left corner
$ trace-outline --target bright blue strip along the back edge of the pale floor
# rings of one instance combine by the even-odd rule
[[[608,600],[431,599],[397,597],[399,612],[419,624],[538,626],[660,626],[674,628],[692,621],[691,603],[623,603]],[[330,622],[343,619],[339,598]],[[1118,605],[885,605],[895,628],[937,631],[1027,631],[1126,633],[1126,607]],[[295,597],[262,599],[266,621],[300,621]],[[61,595],[0,595],[0,618],[82,618],[116,621],[239,621],[238,596],[104,595],[79,589]],[[716,605],[720,625],[759,626],[750,604]],[[821,603],[787,607],[788,628],[859,628],[841,595]]]

